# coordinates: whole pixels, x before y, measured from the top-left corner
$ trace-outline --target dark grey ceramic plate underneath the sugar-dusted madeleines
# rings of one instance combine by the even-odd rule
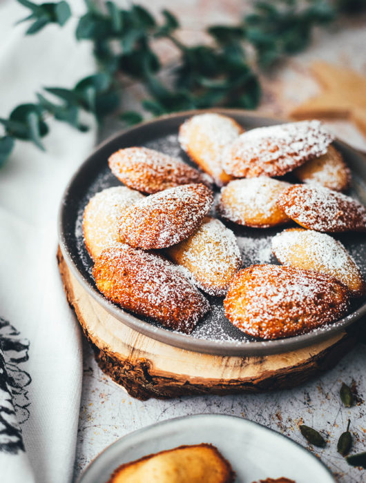
[[[93,262],[84,246],[81,222],[84,207],[90,197],[104,188],[120,184],[108,168],[108,157],[119,148],[146,146],[161,150],[175,157],[180,157],[190,163],[188,157],[180,149],[177,141],[177,132],[185,119],[198,112],[202,111],[189,111],[161,117],[121,132],[99,146],[77,170],[61,201],[59,244],[66,263],[73,270],[74,275],[82,286],[109,313],[117,317],[121,323],[135,329],[135,331],[173,346],[220,355],[269,355],[292,351],[296,348],[329,339],[360,319],[360,317],[363,317],[366,313],[365,299],[357,299],[349,315],[335,324],[296,337],[262,342],[253,339],[253,337],[248,337],[230,324],[224,316],[222,298],[208,297],[211,302],[211,312],[198,324],[191,335],[184,335],[170,331],[145,317],[136,317],[132,313],[122,310],[119,306],[108,302],[99,293],[91,276]],[[215,112],[221,112],[233,117],[246,129],[269,126],[280,122],[278,119],[259,117],[253,113],[241,110],[215,110]],[[346,144],[336,142],[336,147],[343,152],[347,164],[353,173],[350,194],[366,204],[366,159]],[[289,180],[291,180],[291,177]],[[227,226],[238,237],[244,266],[255,263],[276,263],[273,255],[271,255],[271,237],[283,228],[244,228],[234,224],[227,224]],[[365,234],[346,233],[337,238],[345,244],[347,250],[356,259],[365,275]]]

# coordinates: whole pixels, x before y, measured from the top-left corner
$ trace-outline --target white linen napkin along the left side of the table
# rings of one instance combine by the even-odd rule
[[[13,0],[0,0],[0,117],[35,101],[42,86],[70,88],[95,72],[90,44],[75,40],[75,19],[24,37],[26,25],[14,23],[27,14]],[[57,212],[95,132],[51,121],[46,152],[19,142],[0,168],[1,483],[66,483],[73,474],[81,340],[57,270]]]

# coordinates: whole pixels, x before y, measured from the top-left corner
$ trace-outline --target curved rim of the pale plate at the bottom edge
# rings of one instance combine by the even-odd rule
[[[334,483],[336,483],[336,481],[337,481],[336,477],[334,476],[332,471],[328,468],[328,466],[320,459],[320,457],[316,457],[316,455],[314,455],[314,453],[309,451],[309,449],[305,448],[305,446],[302,446],[302,444],[298,443],[297,441],[292,440],[291,437],[284,435],[284,434],[280,433],[279,431],[276,431],[276,429],[269,428],[268,426],[264,426],[264,424],[261,424],[261,423],[256,422],[256,421],[249,420],[249,419],[247,419],[247,417],[240,417],[240,416],[237,416],[237,415],[230,415],[230,414],[224,414],[224,413],[198,413],[198,414],[171,417],[171,418],[168,418],[167,420],[158,421],[158,422],[155,422],[153,424],[148,424],[148,426],[144,426],[142,428],[135,429],[134,431],[131,431],[130,433],[127,433],[126,435],[119,437],[113,443],[108,444],[108,446],[106,446],[106,448],[104,448],[102,451],[100,451],[100,453],[98,453],[93,458],[93,460],[91,460],[86,465],[86,467],[81,472],[81,474],[79,475],[79,477],[77,478],[75,483],[83,483],[84,476],[90,470],[90,468],[95,464],[95,462],[99,459],[99,457],[104,455],[106,452],[110,451],[110,448],[112,446],[119,444],[119,442],[121,442],[122,440],[128,440],[130,437],[133,437],[133,436],[138,435],[138,434],[143,434],[145,431],[153,429],[157,426],[169,426],[170,424],[174,424],[174,422],[178,422],[178,421],[181,421],[181,420],[190,421],[190,420],[201,419],[201,418],[209,420],[211,418],[215,419],[216,417],[219,417],[219,418],[223,417],[224,419],[229,419],[229,420],[240,420],[240,424],[244,423],[244,424],[248,424],[249,426],[251,426],[251,425],[252,426],[260,426],[260,428],[264,428],[265,431],[271,431],[272,433],[275,433],[277,436],[282,437],[284,440],[287,440],[288,442],[292,443],[293,445],[298,446],[298,449],[300,449],[301,451],[305,451],[305,453],[307,453],[307,455],[310,455],[311,458],[314,458],[314,460],[316,460],[316,462],[318,462],[321,466],[323,466],[323,468],[327,471],[327,473],[329,474],[329,477],[331,477],[331,480]],[[184,443],[182,443],[182,444],[184,444]],[[162,451],[164,451],[164,450],[162,450]]]

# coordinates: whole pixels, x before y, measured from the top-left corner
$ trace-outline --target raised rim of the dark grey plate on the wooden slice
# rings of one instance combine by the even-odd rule
[[[197,353],[209,353],[213,355],[224,355],[224,356],[249,356],[249,355],[275,355],[280,353],[286,353],[291,351],[296,351],[300,348],[308,347],[312,344],[316,344],[318,342],[324,342],[327,339],[331,339],[332,337],[338,335],[340,332],[344,331],[345,328],[356,322],[358,319],[366,315],[366,301],[365,303],[360,306],[356,311],[350,313],[340,319],[339,321],[331,324],[329,330],[325,329],[324,331],[319,332],[309,332],[305,334],[296,335],[294,337],[287,337],[283,339],[275,339],[275,340],[263,340],[263,341],[254,341],[254,342],[233,342],[233,341],[219,341],[213,339],[200,339],[196,337],[192,337],[191,335],[186,335],[184,333],[179,333],[177,331],[168,331],[165,328],[160,328],[157,326],[151,325],[149,322],[145,322],[138,317],[124,311],[123,308],[112,304],[104,295],[99,293],[97,289],[90,285],[88,280],[82,275],[73,259],[68,251],[68,245],[66,241],[66,234],[64,233],[64,226],[63,226],[63,218],[64,213],[66,210],[66,199],[68,197],[68,193],[72,188],[75,180],[79,176],[79,172],[81,172],[90,161],[97,155],[99,150],[102,150],[105,146],[110,144],[111,142],[117,140],[121,136],[128,136],[129,133],[144,129],[146,126],[151,126],[152,124],[159,124],[162,121],[168,121],[168,119],[177,119],[177,118],[184,118],[189,117],[197,114],[202,114],[204,112],[215,112],[218,114],[228,115],[228,116],[243,116],[243,117],[256,117],[260,119],[270,119],[271,121],[276,121],[279,123],[288,122],[286,119],[279,119],[277,117],[271,115],[262,115],[262,113],[258,113],[256,111],[250,110],[243,110],[243,109],[202,109],[202,110],[186,110],[183,112],[174,112],[168,115],[163,115],[160,117],[156,117],[154,119],[150,119],[148,121],[144,121],[139,123],[127,130],[120,130],[115,132],[115,134],[111,135],[103,141],[101,144],[93,149],[90,155],[83,161],[79,167],[75,170],[73,176],[68,181],[64,193],[61,197],[61,202],[59,205],[59,213],[58,213],[58,221],[57,221],[57,231],[58,231],[58,239],[59,239],[59,246],[61,248],[61,253],[64,256],[65,262],[70,268],[71,272],[77,279],[77,281],[81,284],[81,286],[86,289],[87,293],[91,295],[102,307],[113,315],[115,318],[119,320],[122,324],[127,325],[128,327],[132,328],[133,330],[142,333],[146,337],[150,337],[152,339],[157,340],[162,344],[167,344],[169,346],[175,346],[177,348],[184,349],[186,351],[192,351]],[[266,114],[266,113],[264,113]],[[336,142],[340,145],[345,147],[348,150],[351,150],[356,157],[365,158],[365,166],[366,166],[366,157],[349,146],[347,143],[336,139]]]

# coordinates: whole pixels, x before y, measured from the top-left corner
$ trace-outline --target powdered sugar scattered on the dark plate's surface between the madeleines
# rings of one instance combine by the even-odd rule
[[[177,134],[173,131],[174,129],[172,128],[170,134],[166,134],[164,132],[161,137],[155,137],[155,139],[146,139],[146,142],[144,141],[144,146],[155,150],[160,150],[173,157],[180,157],[181,159],[184,157],[185,162],[192,164],[191,161],[183,155],[180,144],[177,141]],[[157,135],[160,135],[160,133],[157,133]],[[88,280],[91,286],[95,286],[95,282],[91,277],[92,262],[88,256],[88,253],[86,252],[82,235],[82,218],[84,208],[90,197],[92,197],[95,193],[104,188],[115,186],[119,183],[119,181],[117,181],[117,179],[110,172],[106,160],[104,160],[104,164],[100,164],[100,168],[96,173],[93,172],[92,176],[93,178],[88,181],[88,187],[85,193],[81,193],[81,197],[77,199],[77,204],[75,204],[75,229],[73,227],[71,228],[73,233],[71,233],[70,236],[73,238],[72,243],[75,245],[75,263],[77,263],[77,266],[79,267],[83,277]],[[356,175],[354,176],[352,186],[353,190],[351,191],[351,196],[365,199],[365,184],[363,184],[363,181],[361,181],[360,177]],[[218,193],[216,193],[216,195],[218,196]],[[271,237],[272,235],[276,234],[277,230],[260,230],[258,228],[251,229],[233,224],[229,224],[228,226],[237,236],[244,266],[249,266],[253,263],[273,263],[273,261],[275,261],[273,255],[271,255]],[[340,239],[343,244],[345,244],[347,250],[349,250],[349,253],[351,253],[356,262],[359,264],[365,276],[366,252],[364,235],[360,233],[352,233],[351,237],[349,237],[348,234],[345,234],[341,235]],[[195,327],[191,337],[214,340],[215,342],[218,342],[218,344],[230,342],[231,344],[238,346],[242,346],[242,344],[251,344],[251,342],[255,340],[253,337],[243,333],[229,322],[224,315],[221,298],[209,297],[209,302],[211,305],[210,313],[206,315],[204,319],[202,319]],[[353,303],[354,306],[352,310],[355,310],[360,306],[360,304],[363,303],[363,299],[355,299]],[[347,316],[347,319],[351,319],[353,316],[353,314],[350,314]],[[164,327],[159,322],[156,322],[148,317],[141,315],[137,315],[136,317],[148,321],[153,330]],[[338,325],[338,322],[333,322],[332,325]],[[329,326],[325,325],[313,330],[315,333],[324,331],[329,331]],[[269,343],[267,342],[267,344]]]

